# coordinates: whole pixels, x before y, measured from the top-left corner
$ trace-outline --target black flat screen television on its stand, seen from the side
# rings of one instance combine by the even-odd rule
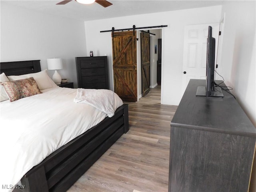
[[[196,96],[224,97],[221,88],[215,86],[215,38],[212,37],[212,26],[208,27],[206,56],[206,87],[198,87]]]

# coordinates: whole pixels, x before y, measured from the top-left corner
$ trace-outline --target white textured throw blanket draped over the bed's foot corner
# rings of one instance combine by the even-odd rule
[[[108,117],[114,116],[115,110],[123,104],[120,97],[112,90],[83,88],[77,89],[74,102],[89,104],[106,113]]]

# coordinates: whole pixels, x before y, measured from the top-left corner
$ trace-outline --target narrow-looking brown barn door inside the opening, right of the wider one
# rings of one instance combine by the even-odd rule
[[[149,33],[140,33],[141,69],[142,69],[142,96],[149,92],[150,87],[150,36]]]

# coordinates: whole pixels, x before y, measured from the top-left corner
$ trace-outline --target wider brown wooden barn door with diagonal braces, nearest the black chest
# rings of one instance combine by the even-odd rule
[[[137,101],[136,31],[112,33],[114,92],[123,101]]]

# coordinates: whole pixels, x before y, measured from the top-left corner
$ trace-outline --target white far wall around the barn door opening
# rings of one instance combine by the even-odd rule
[[[113,90],[112,41],[111,33],[102,30],[168,25],[162,28],[162,93],[161,103],[178,105],[182,97],[182,58],[184,26],[220,21],[221,6],[141,14],[119,18],[85,22],[86,48],[93,50],[96,56],[108,56],[110,70],[110,88]],[[164,38],[164,39],[163,39]],[[164,46],[164,47],[163,47]]]

